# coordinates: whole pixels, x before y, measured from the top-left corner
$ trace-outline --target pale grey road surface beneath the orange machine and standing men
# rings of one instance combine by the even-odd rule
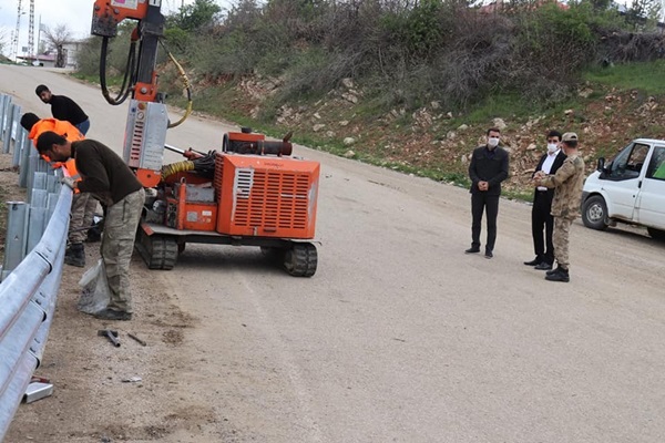
[[[0,66],[0,92],[50,116],[39,83],[78,101],[88,136],[121,151],[126,105]],[[167,143],[218,148],[229,128],[191,117]],[[216,380],[209,402],[233,405],[224,414],[253,430],[247,441],[665,441],[664,244],[577,220],[571,282],[549,282],[522,265],[529,205],[501,200],[488,260],[463,254],[467,189],[295,151],[321,163],[313,278],[267,268],[254,249],[198,245],[151,272],[197,319],[186,339],[207,358],[183,378],[202,394]]]

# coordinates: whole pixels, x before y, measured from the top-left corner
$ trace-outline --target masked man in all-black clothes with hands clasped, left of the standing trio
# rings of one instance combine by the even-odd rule
[[[488,130],[488,142],[473,151],[469,165],[471,178],[471,247],[464,253],[480,253],[480,230],[482,213],[487,210],[488,238],[485,258],[493,257],[497,240],[497,216],[499,215],[499,198],[501,182],[508,178],[508,152],[499,146],[501,131],[497,127]]]

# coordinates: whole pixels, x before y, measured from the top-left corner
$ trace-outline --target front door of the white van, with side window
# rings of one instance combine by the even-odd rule
[[[611,217],[633,220],[641,173],[649,148],[651,146],[644,143],[631,143],[614,157],[608,173],[602,176]]]

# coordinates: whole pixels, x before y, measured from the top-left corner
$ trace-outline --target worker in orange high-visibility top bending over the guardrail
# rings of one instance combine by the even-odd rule
[[[23,114],[21,126],[25,131],[29,131],[28,138],[32,141],[34,147],[37,147],[37,138],[47,131],[62,135],[70,142],[85,140],[85,136],[70,122],[55,119],[40,119],[31,112]],[[64,163],[52,163],[49,157],[42,157],[51,163],[53,167],[62,167],[65,176],[76,181],[81,179],[73,158]],[[78,190],[74,193],[70,212],[69,246],[64,253],[64,262],[68,265],[81,268],[85,266],[85,248],[83,247],[83,240],[85,240],[88,230],[85,227],[92,225],[96,204],[96,199],[89,193],[80,193]]]

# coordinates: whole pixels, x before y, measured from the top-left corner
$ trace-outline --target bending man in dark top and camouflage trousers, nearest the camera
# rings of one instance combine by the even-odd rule
[[[92,193],[106,206],[101,253],[111,296],[106,308],[94,316],[131,320],[130,261],[145,200],[143,186],[117,154],[94,140],[72,143],[54,132],[44,132],[37,141],[37,148],[54,161],[74,158],[81,181],[65,177],[63,183],[72,189]]]

